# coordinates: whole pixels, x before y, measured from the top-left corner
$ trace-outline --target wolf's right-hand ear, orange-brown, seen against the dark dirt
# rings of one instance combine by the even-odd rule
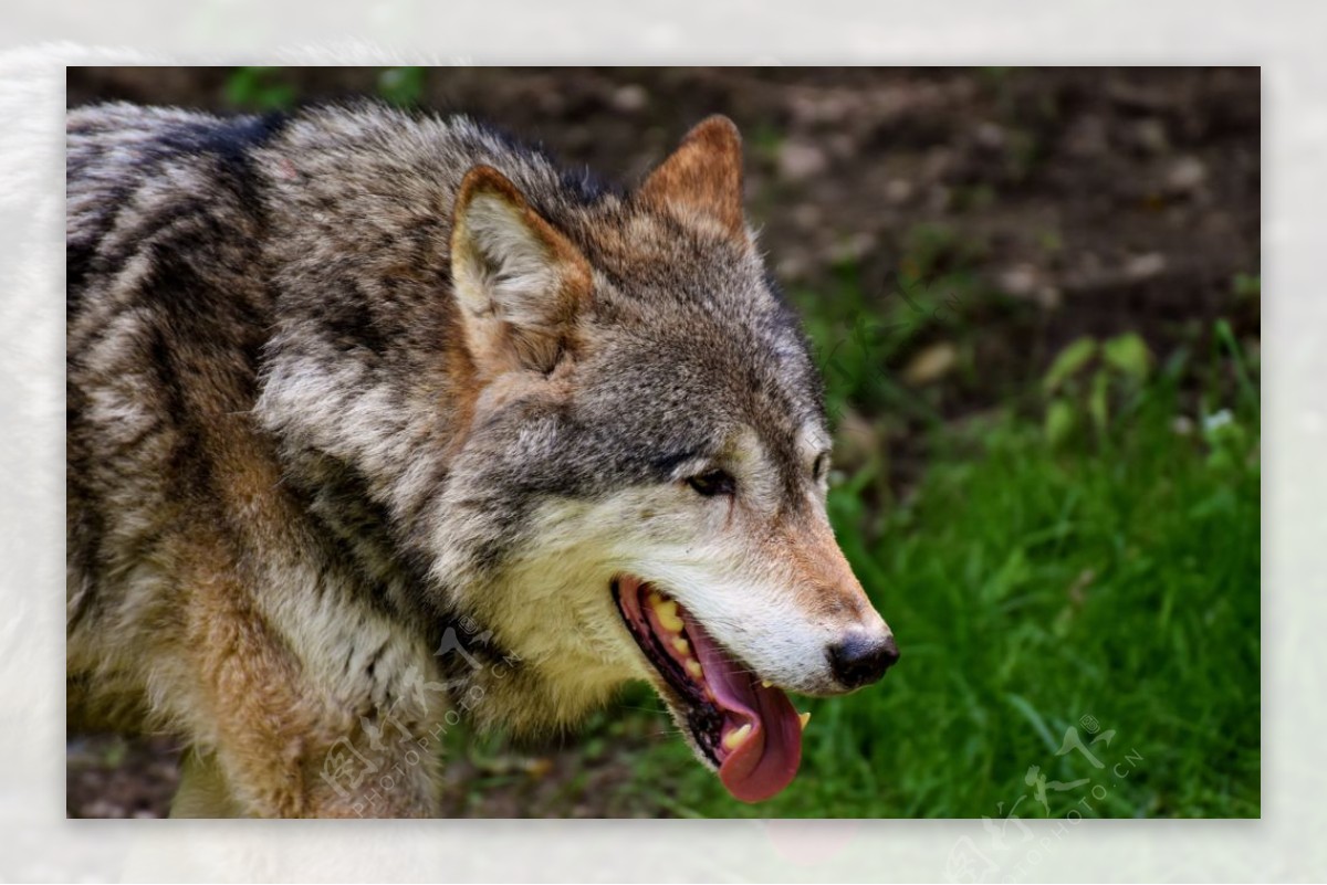
[[[736,125],[718,114],[698,123],[645,179],[640,196],[682,217],[718,223],[725,233],[746,242],[742,135]]]

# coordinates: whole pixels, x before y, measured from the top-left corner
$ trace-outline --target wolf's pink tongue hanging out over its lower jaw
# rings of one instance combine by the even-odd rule
[[[736,726],[751,725],[746,742],[719,764],[719,780],[742,802],[763,802],[779,794],[802,763],[802,722],[788,696],[762,688],[739,670],[703,631],[687,624],[705,681],[719,706]]]

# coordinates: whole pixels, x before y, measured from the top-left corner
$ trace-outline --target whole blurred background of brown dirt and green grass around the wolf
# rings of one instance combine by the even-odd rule
[[[736,803],[645,689],[454,729],[464,816],[1259,816],[1258,69],[70,68],[68,103],[377,97],[633,184],[714,113],[802,310],[831,515],[900,665]],[[70,734],[70,816],[158,816],[170,735]]]

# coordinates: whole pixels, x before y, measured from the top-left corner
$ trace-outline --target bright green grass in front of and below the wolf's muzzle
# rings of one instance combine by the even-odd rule
[[[1162,374],[1054,441],[1014,415],[947,433],[873,545],[861,477],[840,484],[831,515],[898,666],[795,700],[813,713],[802,771],[772,802],[734,802],[679,741],[650,745],[624,788],[687,816],[1257,816],[1257,390],[1182,433],[1176,387]],[[1083,717],[1109,742],[1087,743]],[[1071,729],[1103,768],[1058,754]],[[1088,780],[1043,807],[1031,766]]]

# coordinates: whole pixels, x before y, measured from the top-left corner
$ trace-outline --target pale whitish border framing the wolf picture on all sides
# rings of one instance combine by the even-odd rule
[[[66,821],[61,635],[64,65],[1261,64],[1265,72],[1262,821],[1087,821],[1034,881],[1327,876],[1323,7],[673,0],[33,3],[0,36],[0,878],[943,880],[979,821]],[[21,4],[20,4],[21,7]],[[52,42],[60,41],[60,42]],[[373,41],[373,42],[366,42]],[[107,49],[113,48],[113,49]],[[924,729],[925,717],[917,727]]]

